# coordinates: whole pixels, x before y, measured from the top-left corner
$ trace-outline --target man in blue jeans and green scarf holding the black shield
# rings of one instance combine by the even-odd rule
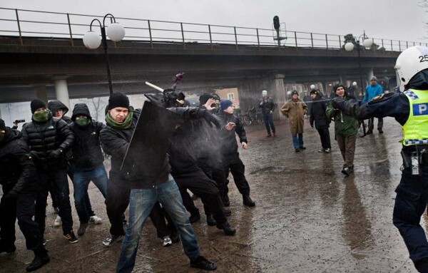
[[[190,259],[190,266],[215,270],[216,265],[200,255],[199,245],[183,206],[180,191],[170,175],[170,165],[166,153],[161,155],[163,158],[161,164],[153,168],[148,168],[141,163],[135,163],[136,168],[131,168],[131,170],[128,170],[128,167],[126,170],[121,168],[141,110],[134,110],[129,105],[128,97],[123,93],[111,94],[108,99],[107,110],[107,125],[101,130],[103,150],[112,156],[111,174],[116,176],[116,180],[131,185],[129,225],[126,230],[126,237],[123,239],[116,272],[132,272],[136,262],[141,230],[157,201],[161,202],[175,227],[177,227],[185,254]],[[206,110],[197,108],[181,108],[180,111],[182,116],[187,117],[190,115],[208,115]],[[168,142],[168,140],[162,141]],[[119,238],[114,236],[111,239],[118,240]]]

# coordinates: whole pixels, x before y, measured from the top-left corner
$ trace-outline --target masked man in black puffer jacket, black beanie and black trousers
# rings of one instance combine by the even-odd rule
[[[54,119],[46,104],[31,101],[31,122],[22,128],[23,138],[29,145],[36,163],[40,186],[36,197],[35,220],[41,234],[45,230],[46,201],[51,188],[58,202],[58,215],[62,220],[63,235],[71,244],[78,242],[73,232],[73,218],[69,198],[66,152],[73,144],[74,136],[67,123]]]

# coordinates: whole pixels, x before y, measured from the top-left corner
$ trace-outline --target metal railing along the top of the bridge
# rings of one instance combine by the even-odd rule
[[[0,36],[18,36],[21,45],[24,45],[24,38],[31,37],[66,38],[70,40],[70,46],[81,46],[75,45],[73,38],[83,38],[89,31],[92,19],[103,19],[103,16],[0,8]],[[188,43],[203,43],[211,48],[216,44],[233,44],[237,50],[241,45],[257,46],[259,49],[277,47],[278,50],[285,47],[342,50],[346,35],[282,31],[281,36],[287,38],[278,45],[274,40],[277,34],[272,29],[121,17],[116,17],[116,21],[126,29],[124,40],[146,42],[152,47],[153,43],[173,42],[182,43],[183,48]],[[372,39],[382,51],[403,51],[410,46],[428,46],[427,43],[413,41]],[[121,44],[117,43],[116,47],[121,47]]]

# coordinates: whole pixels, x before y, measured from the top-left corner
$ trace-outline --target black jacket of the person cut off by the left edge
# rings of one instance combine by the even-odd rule
[[[3,192],[36,192],[37,181],[36,166],[22,133],[6,127],[4,140],[0,141],[0,184],[4,187]]]

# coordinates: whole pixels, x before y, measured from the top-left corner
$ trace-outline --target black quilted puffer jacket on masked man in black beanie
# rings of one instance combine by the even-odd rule
[[[49,116],[46,123],[31,121],[22,128],[23,138],[28,143],[37,168],[44,170],[58,170],[66,168],[66,152],[73,144],[74,136],[64,120]],[[63,150],[59,158],[49,158],[56,149]]]

